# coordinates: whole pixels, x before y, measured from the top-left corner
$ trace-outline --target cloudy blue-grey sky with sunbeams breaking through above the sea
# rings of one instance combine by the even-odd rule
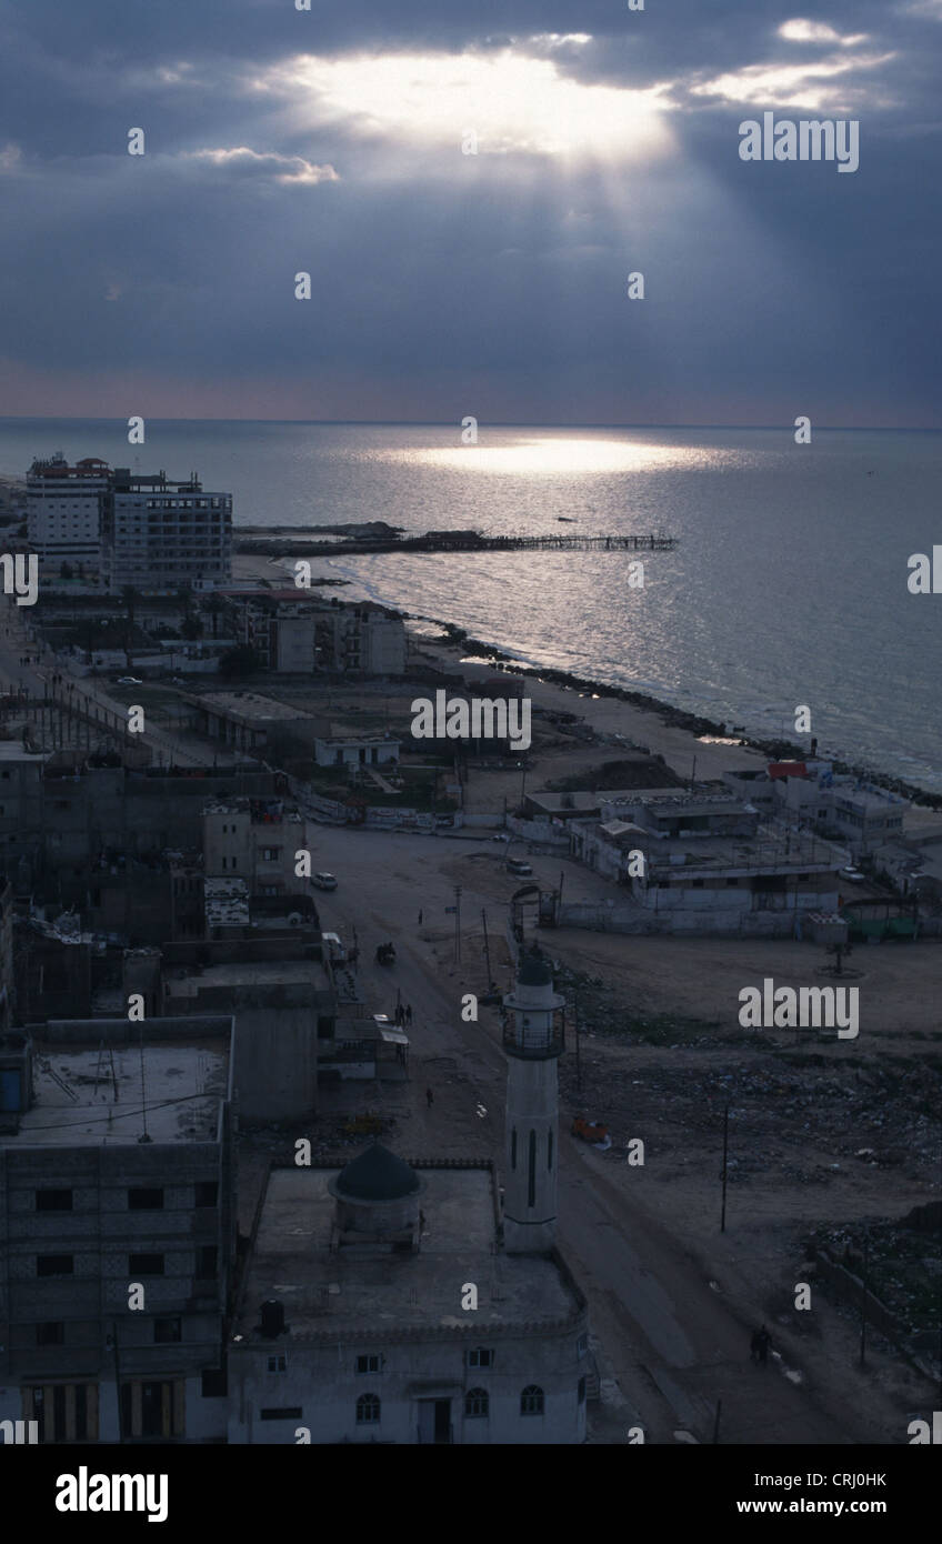
[[[303,3],[0,0],[0,415],[940,426],[942,0]]]

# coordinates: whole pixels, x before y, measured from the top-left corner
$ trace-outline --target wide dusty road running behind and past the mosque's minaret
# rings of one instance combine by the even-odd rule
[[[490,894],[476,889],[476,871],[482,874],[485,865],[493,874],[497,862],[497,845],[490,852],[483,848],[486,841],[318,826],[313,865],[338,875],[338,889],[318,894],[317,905],[324,928],[347,939],[357,928],[368,1011],[391,1013],[397,987],[403,1002],[412,1004],[411,1082],[380,1095],[408,1104],[402,1112],[409,1127],[403,1153],[408,1147],[412,1155],[457,1156],[485,1149],[502,1166],[507,1065],[497,1014],[483,1008],[480,1024],[462,1022],[460,996],[482,991],[483,974],[469,943],[465,965],[454,963],[452,917],[445,913],[452,905],[456,871],[466,869],[463,916],[477,925],[486,906],[494,931],[502,926],[493,888]],[[482,855],[473,860],[473,852]],[[508,896],[511,888],[508,880]],[[374,962],[385,939],[397,948],[391,971]],[[425,1106],[426,1084],[434,1092],[431,1109]],[[486,1118],[477,1118],[477,1106]],[[564,1133],[567,1124],[562,1113]],[[801,1370],[749,1362],[754,1325],[710,1286],[707,1271],[672,1234],[669,1218],[647,1210],[642,1186],[622,1189],[608,1175],[601,1155],[562,1135],[559,1243],[646,1441],[673,1442],[675,1433],[686,1430],[709,1442],[718,1399],[724,1444],[865,1441],[866,1411],[828,1411],[809,1393]],[[741,1265],[747,1265],[747,1248],[744,1240]],[[797,1377],[803,1383],[792,1380]],[[625,1427],[630,1424],[629,1414]]]

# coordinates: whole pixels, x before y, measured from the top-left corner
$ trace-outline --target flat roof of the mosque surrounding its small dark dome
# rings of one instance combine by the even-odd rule
[[[352,1156],[357,1156],[355,1153]],[[278,1297],[293,1336],[337,1337],[354,1329],[466,1329],[553,1323],[579,1300],[556,1263],[494,1254],[494,1177],[490,1167],[418,1167],[425,1229],[418,1254],[329,1252],[334,1169],[272,1169],[246,1291],[233,1334],[258,1340],[259,1306]],[[476,1282],[477,1312],[463,1314],[459,1286]],[[284,1348],[290,1337],[280,1339]]]

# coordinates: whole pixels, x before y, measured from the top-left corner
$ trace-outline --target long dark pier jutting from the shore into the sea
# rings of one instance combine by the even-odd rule
[[[258,528],[256,528],[258,530]],[[340,553],[670,553],[675,536],[655,533],[632,536],[482,536],[480,531],[426,531],[425,536],[378,536],[324,542],[273,531],[270,537],[238,539],[238,553],[256,556],[334,557]]]

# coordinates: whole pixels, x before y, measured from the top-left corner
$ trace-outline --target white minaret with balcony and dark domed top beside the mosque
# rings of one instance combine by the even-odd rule
[[[545,1254],[556,1237],[559,1164],[559,1079],[556,1059],[564,999],[539,956],[524,957],[513,993],[503,999],[507,1051],[507,1169],[503,1246],[508,1254]]]

